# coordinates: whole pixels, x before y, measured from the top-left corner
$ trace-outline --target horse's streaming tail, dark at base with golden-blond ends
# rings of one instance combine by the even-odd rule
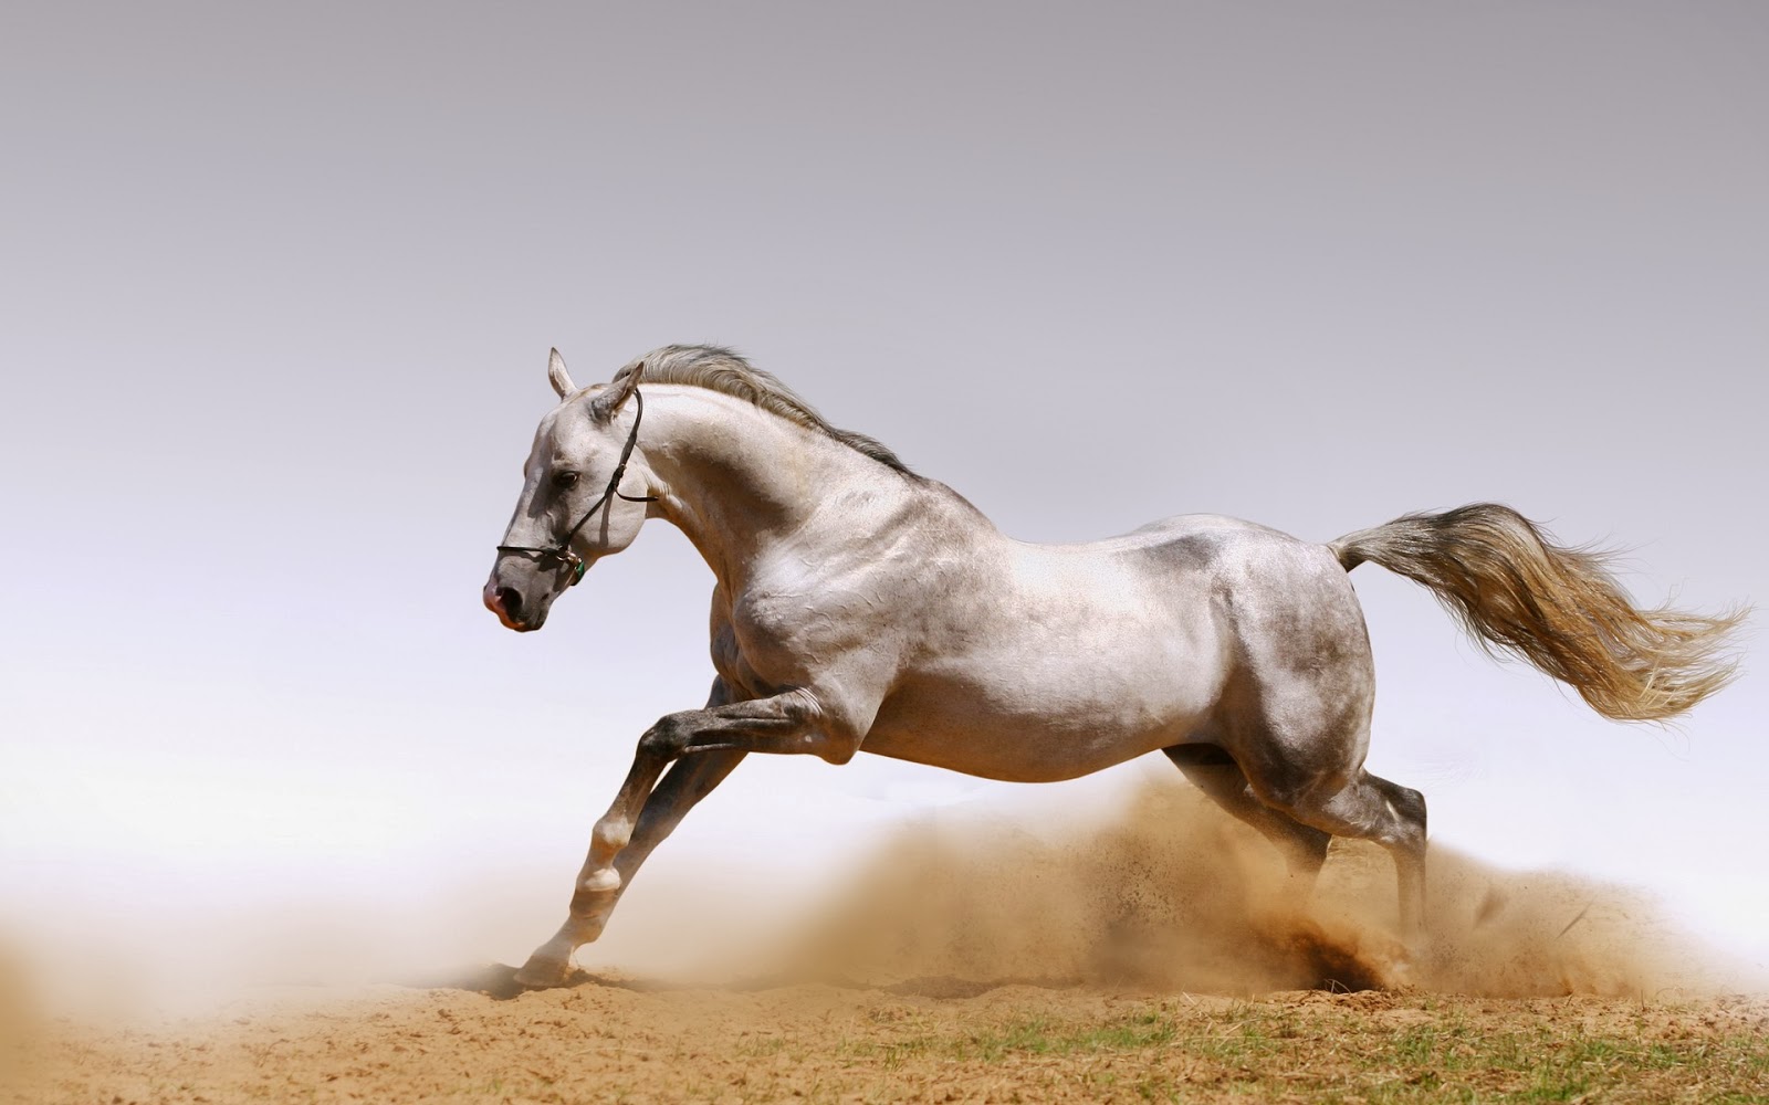
[[[1406,514],[1329,548],[1346,571],[1369,560],[1424,583],[1488,652],[1528,659],[1617,721],[1681,714],[1737,675],[1728,633],[1746,608],[1636,610],[1604,553],[1560,548],[1507,506]]]

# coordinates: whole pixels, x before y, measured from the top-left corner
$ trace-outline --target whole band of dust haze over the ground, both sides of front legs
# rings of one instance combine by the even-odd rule
[[[764,877],[755,856],[665,849],[578,965],[623,985],[833,981],[936,997],[1003,983],[1649,1001],[1765,988],[1640,891],[1442,847],[1431,937],[1410,951],[1380,849],[1334,842],[1298,907],[1277,852],[1182,781],[1143,781],[1091,812],[1051,813],[1042,796],[1012,813],[945,808],[877,840],[844,875],[817,865],[796,886]],[[462,979],[520,964],[563,912],[555,866],[455,877],[389,875],[375,893],[301,886],[299,905],[228,907],[186,889],[177,909],[138,911],[126,939],[71,918],[51,926],[60,941],[0,934],[0,1038],[44,1008],[133,1020],[290,988],[315,1001],[366,983],[476,988]]]

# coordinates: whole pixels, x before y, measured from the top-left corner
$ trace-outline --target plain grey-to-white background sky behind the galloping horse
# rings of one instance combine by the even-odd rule
[[[711,576],[658,523],[543,633],[479,606],[550,345],[734,345],[1024,539],[1502,500],[1643,603],[1762,601],[1765,57],[1750,2],[9,5],[0,925],[552,930],[704,697]],[[1355,582],[1371,766],[1436,843],[1769,962],[1750,636],[1622,727]],[[752,758],[647,879],[810,882],[1150,771]]]

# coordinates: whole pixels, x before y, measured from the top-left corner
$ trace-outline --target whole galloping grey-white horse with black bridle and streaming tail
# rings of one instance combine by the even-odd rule
[[[729,350],[660,348],[586,389],[554,350],[548,377],[561,403],[485,605],[540,629],[589,564],[663,518],[718,578],[716,677],[706,707],[639,737],[566,923],[517,974],[531,987],[564,979],[651,849],[752,751],[846,764],[865,750],[1028,783],[1162,751],[1304,886],[1332,836],[1383,845],[1415,935],[1426,803],[1364,771],[1375,681],[1346,576],[1364,560],[1431,587],[1484,645],[1610,718],[1668,718],[1735,670],[1742,610],[1636,610],[1599,557],[1504,506],[1330,545],[1206,514],[1026,545]]]

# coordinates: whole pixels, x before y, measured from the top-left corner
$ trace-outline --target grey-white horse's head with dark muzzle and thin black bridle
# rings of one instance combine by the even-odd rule
[[[630,465],[644,476],[644,458],[633,454],[644,414],[640,371],[644,362],[623,370],[612,384],[580,391],[559,350],[552,352],[547,378],[559,405],[534,431],[522,497],[485,582],[486,608],[509,629],[540,629],[566,587],[639,536],[651,500],[623,493],[621,483]],[[639,481],[628,476],[626,483]]]

